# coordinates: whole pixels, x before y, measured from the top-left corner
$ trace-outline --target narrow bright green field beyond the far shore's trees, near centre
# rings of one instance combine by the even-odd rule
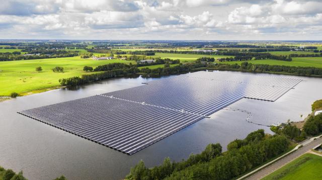
[[[169,59],[180,59],[181,62],[191,62],[196,61],[198,58],[202,57],[211,57],[211,58],[226,58],[226,57],[232,57],[232,56],[217,56],[217,55],[199,55],[199,54],[172,54],[172,53],[155,53],[152,57],[160,57],[162,59],[169,58]]]

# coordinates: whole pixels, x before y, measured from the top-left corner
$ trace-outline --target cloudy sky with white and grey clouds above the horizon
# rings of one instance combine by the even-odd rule
[[[0,0],[0,39],[322,40],[322,0]]]

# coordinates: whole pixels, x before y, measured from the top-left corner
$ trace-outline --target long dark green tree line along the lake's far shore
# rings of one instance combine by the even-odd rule
[[[256,72],[256,73],[273,72],[273,73],[287,73],[287,74],[300,75],[300,76],[314,75],[314,76],[322,77],[322,68],[263,65],[263,64],[252,64],[248,62],[243,62],[240,65],[221,64],[221,63],[204,64],[204,63],[198,63],[198,62],[191,63],[191,64],[180,63],[178,66],[170,67],[168,65],[163,68],[155,68],[155,69],[150,69],[148,67],[138,69],[136,65],[132,65],[132,64],[127,65],[123,63],[112,63],[107,65],[101,65],[94,69],[94,71],[105,71],[105,72],[91,74],[91,75],[83,75],[82,77],[71,77],[71,78],[60,79],[59,82],[63,86],[75,86],[75,85],[99,81],[99,80],[112,78],[119,75],[126,75],[126,74],[142,73],[147,75],[170,75],[170,74],[180,74],[180,73],[185,73],[190,71],[197,71],[201,69],[237,70],[237,71]],[[85,70],[85,71],[88,71],[88,70]]]

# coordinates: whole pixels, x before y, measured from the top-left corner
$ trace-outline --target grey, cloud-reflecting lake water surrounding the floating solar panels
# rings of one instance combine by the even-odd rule
[[[303,81],[276,102],[244,98],[228,107],[251,112],[251,120],[259,124],[301,120],[301,114],[304,117],[310,113],[310,104],[322,99],[322,79],[298,78]],[[248,123],[247,113],[220,110],[211,118],[198,121],[133,155],[127,155],[16,113],[140,86],[142,82],[155,79],[159,78],[115,78],[72,90],[57,89],[0,103],[0,165],[15,171],[23,170],[29,179],[53,179],[61,174],[68,179],[121,179],[140,159],[148,166],[158,165],[168,156],[179,161],[190,153],[201,152],[209,143],[219,142],[225,149],[228,142],[244,138],[251,131],[264,128],[270,132],[268,127]]]

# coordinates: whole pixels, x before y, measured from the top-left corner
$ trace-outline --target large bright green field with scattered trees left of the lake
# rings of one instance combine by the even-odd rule
[[[131,61],[81,59],[78,57],[53,58],[38,60],[4,61],[0,62],[0,96],[8,96],[12,92],[26,94],[35,90],[46,90],[59,86],[58,80],[72,76],[87,74],[84,66],[97,67],[109,63],[126,63]],[[135,64],[135,62],[132,62]],[[41,66],[43,72],[36,72]],[[62,66],[64,72],[52,72],[52,68]],[[35,91],[36,92],[36,91]]]

